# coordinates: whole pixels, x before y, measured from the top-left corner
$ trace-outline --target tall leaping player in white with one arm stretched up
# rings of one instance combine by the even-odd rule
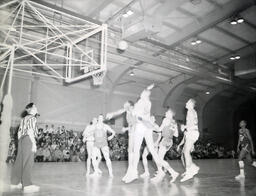
[[[152,154],[152,157],[156,165],[163,166],[167,169],[168,172],[172,173],[172,170],[169,164],[166,161],[163,161],[159,158],[157,151],[154,148],[154,142],[152,138],[152,129],[154,129],[150,121],[150,110],[151,102],[150,95],[151,89],[154,87],[154,84],[150,85],[145,89],[141,95],[140,99],[134,105],[133,115],[136,119],[135,130],[134,130],[134,147],[133,147],[133,160],[132,166],[129,167],[128,177],[125,180],[125,183],[130,183],[138,178],[138,163],[140,158],[140,147],[143,139],[145,138],[149,152]]]

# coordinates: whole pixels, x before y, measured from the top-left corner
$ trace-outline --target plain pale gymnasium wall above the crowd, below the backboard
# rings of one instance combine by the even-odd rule
[[[40,127],[55,124],[82,131],[93,117],[118,110],[127,100],[135,102],[139,98],[138,92],[143,90],[138,88],[118,89],[110,96],[106,86],[91,87],[90,81],[64,85],[54,79],[15,74],[12,88],[13,126],[19,123],[25,105],[34,102],[40,113]],[[163,95],[157,89],[152,94],[152,113],[160,123],[165,112],[161,101]],[[124,122],[124,116],[120,116],[111,122],[111,126],[120,131]]]

